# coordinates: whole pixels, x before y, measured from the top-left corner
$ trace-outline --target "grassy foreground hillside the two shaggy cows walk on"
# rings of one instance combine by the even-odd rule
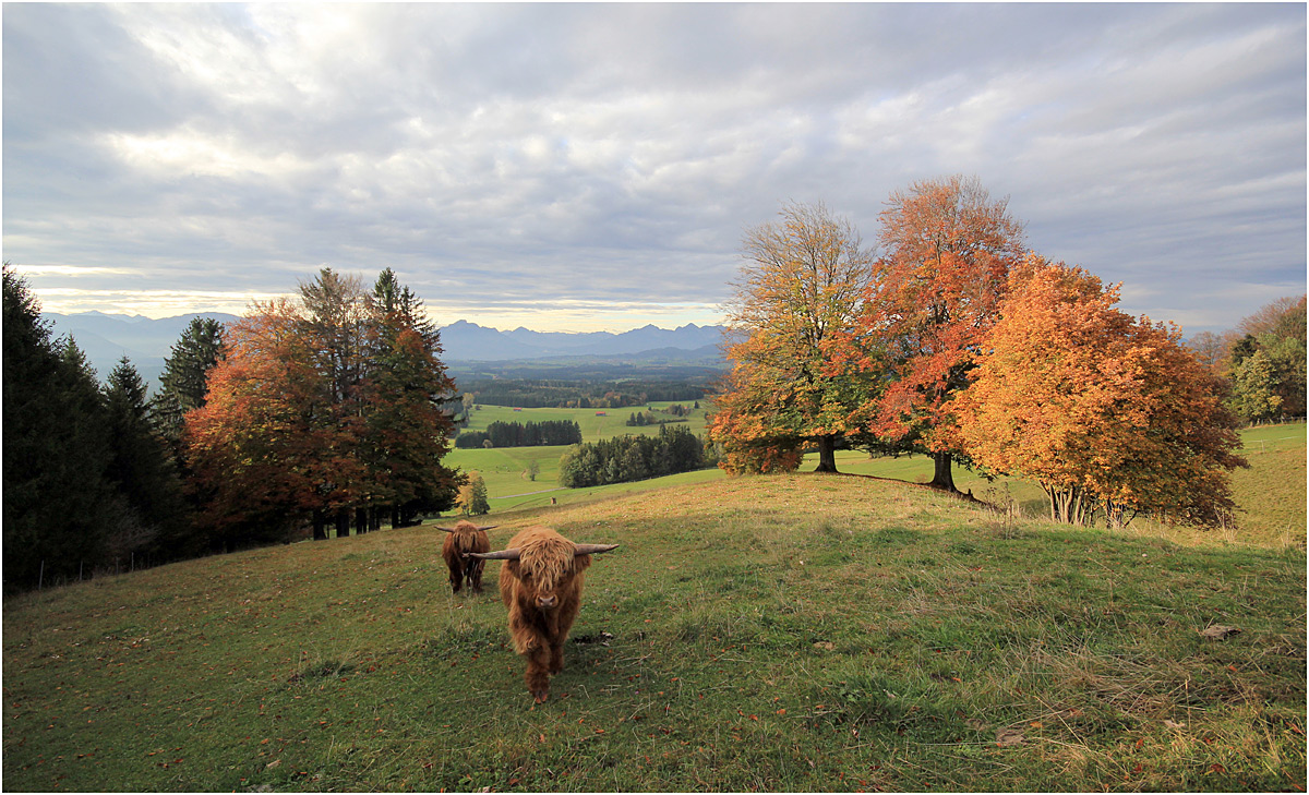
[[[260,549],[8,600],[5,788],[1305,781],[1299,549],[804,475],[492,518],[493,543],[545,522],[622,544],[588,571],[547,703],[507,647],[497,565],[452,596],[429,527]]]

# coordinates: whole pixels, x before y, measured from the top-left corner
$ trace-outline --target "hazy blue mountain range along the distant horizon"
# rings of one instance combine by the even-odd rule
[[[223,323],[236,320],[224,313],[199,313],[174,318],[151,319],[141,315],[107,315],[79,313],[62,315],[42,313],[55,336],[69,335],[96,369],[101,381],[109,377],[122,357],[136,366],[147,382],[158,383],[168,357],[192,318],[213,318]],[[622,333],[596,331],[586,333],[541,332],[528,328],[497,331],[467,320],[456,320],[441,328],[442,360],[449,362],[508,362],[590,358],[614,361],[657,360],[675,364],[719,360],[721,326],[690,323],[678,328],[644,326]]]

